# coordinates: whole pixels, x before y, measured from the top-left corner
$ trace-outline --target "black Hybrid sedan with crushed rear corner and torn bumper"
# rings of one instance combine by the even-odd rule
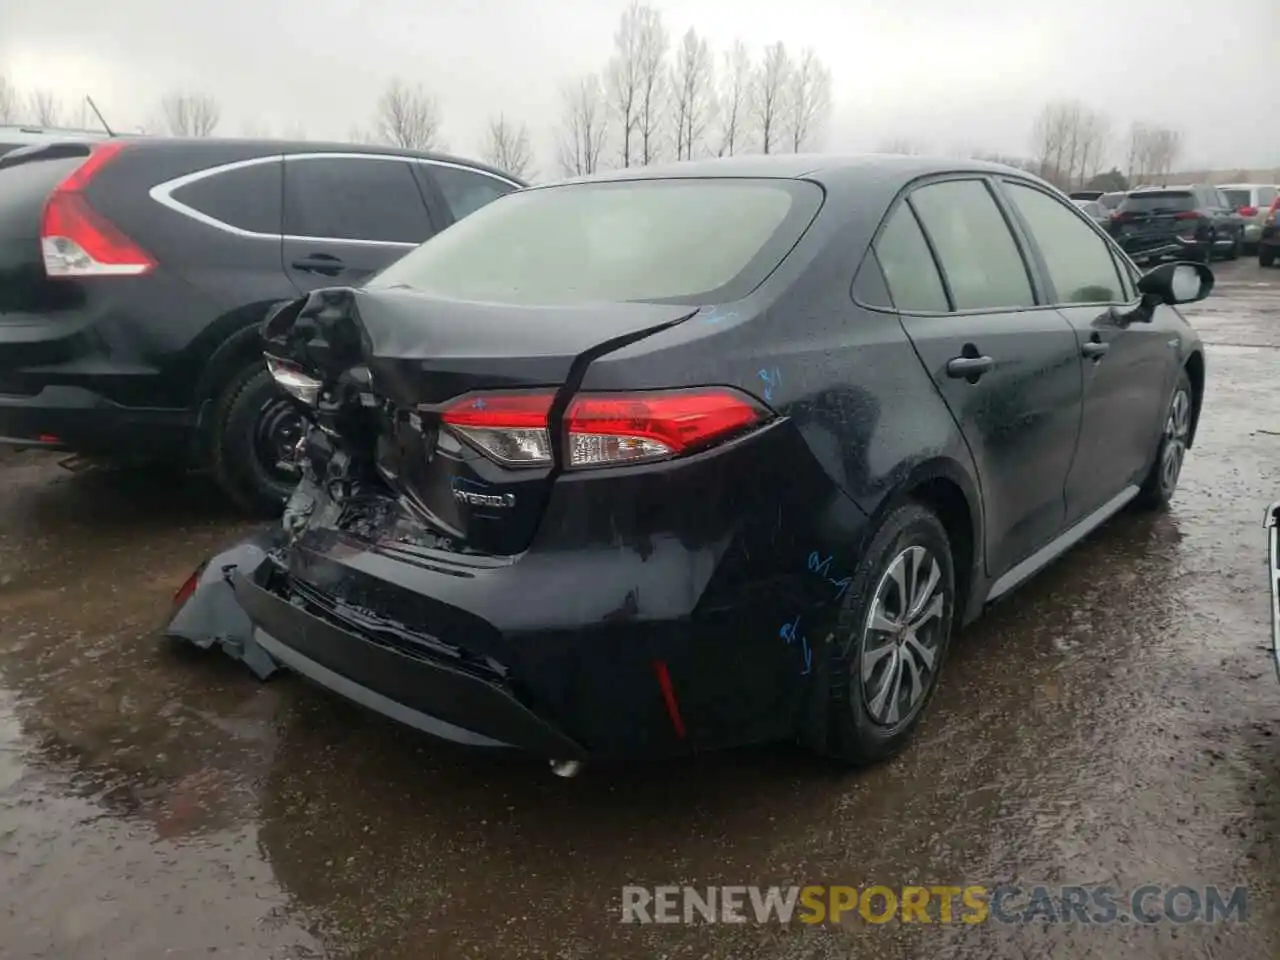
[[[553,762],[887,758],[957,627],[1174,495],[1212,283],[991,164],[512,193],[266,321],[305,479],[168,634]]]

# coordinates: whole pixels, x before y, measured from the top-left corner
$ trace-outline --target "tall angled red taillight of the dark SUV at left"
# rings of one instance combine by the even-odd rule
[[[40,250],[49,276],[137,276],[155,269],[155,260],[84,196],[99,170],[123,148],[119,141],[95,147],[49,195],[40,224]]]

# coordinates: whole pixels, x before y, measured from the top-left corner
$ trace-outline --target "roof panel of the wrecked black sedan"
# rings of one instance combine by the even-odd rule
[[[1030,179],[1037,177],[1005,164],[954,157],[904,156],[899,154],[769,154],[708,157],[680,163],[631,166],[575,177],[561,183],[671,179],[671,178],[781,178],[841,182],[849,178],[905,183],[934,173],[1002,173]]]

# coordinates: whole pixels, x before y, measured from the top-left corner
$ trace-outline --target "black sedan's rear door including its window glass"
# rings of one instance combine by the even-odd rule
[[[987,570],[998,576],[1064,526],[1080,420],[1075,334],[1061,314],[1037,305],[983,178],[913,189],[886,220],[876,253],[902,325],[973,453]]]

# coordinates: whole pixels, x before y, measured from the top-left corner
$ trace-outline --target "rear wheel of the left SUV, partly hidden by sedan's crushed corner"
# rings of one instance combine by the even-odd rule
[[[301,416],[259,360],[230,379],[214,404],[211,461],[214,477],[242,509],[276,516],[297,486],[296,476],[276,467],[280,457],[264,448],[265,419]],[[280,428],[284,430],[284,428]],[[296,436],[293,438],[296,440]],[[282,442],[282,447],[287,447]]]

